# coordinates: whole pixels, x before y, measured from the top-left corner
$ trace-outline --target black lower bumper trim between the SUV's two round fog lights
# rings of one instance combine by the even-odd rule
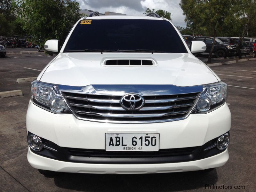
[[[28,135],[32,134],[28,132]],[[175,149],[160,149],[154,152],[141,151],[105,151],[98,149],[65,148],[55,143],[41,138],[44,145],[53,148],[52,151],[43,148],[41,151],[33,151],[37,155],[56,159],[59,161],[88,163],[88,164],[159,164],[159,163],[178,163],[195,161],[210,156],[217,155],[222,150],[212,148],[204,151],[205,148],[217,142],[218,138],[208,141],[203,146]]]

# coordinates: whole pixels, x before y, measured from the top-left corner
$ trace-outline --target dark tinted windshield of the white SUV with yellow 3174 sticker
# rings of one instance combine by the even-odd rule
[[[84,22],[84,24],[82,24]],[[82,20],[72,32],[64,52],[172,52],[187,50],[166,20]]]

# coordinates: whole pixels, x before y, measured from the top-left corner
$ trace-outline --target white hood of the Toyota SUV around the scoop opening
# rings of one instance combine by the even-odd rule
[[[154,66],[107,66],[103,60],[150,59]],[[172,84],[194,86],[218,82],[216,75],[191,53],[60,53],[38,80],[52,84]]]

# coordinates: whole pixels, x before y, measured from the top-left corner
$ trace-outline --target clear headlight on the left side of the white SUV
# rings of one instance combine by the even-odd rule
[[[69,113],[58,85],[42,83],[35,80],[31,83],[30,97],[36,105],[53,113]]]

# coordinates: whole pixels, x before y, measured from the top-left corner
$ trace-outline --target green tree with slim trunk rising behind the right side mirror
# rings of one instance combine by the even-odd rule
[[[209,33],[213,36],[213,44],[208,57],[208,63],[211,62],[212,52],[215,44],[217,30],[222,25],[230,22],[233,17],[232,7],[233,0],[181,0],[180,7],[186,16],[187,25],[193,29]]]

